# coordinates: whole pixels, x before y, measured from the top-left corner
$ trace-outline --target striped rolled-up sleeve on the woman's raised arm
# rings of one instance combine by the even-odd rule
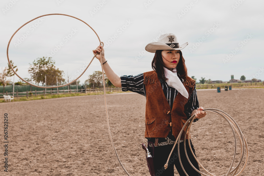
[[[121,78],[121,86],[122,91],[131,91],[135,93],[139,93],[141,95],[145,95],[145,88],[144,88],[144,75],[143,73],[138,74],[136,76],[133,75],[123,75]]]

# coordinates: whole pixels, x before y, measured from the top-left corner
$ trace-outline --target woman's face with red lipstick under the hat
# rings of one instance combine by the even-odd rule
[[[163,63],[168,68],[176,68],[180,60],[179,50],[163,50],[161,51]]]

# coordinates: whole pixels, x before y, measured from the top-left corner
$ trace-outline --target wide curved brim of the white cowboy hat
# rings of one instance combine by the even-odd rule
[[[179,48],[172,48],[164,43],[161,42],[152,42],[149,43],[146,47],[145,50],[150,52],[150,53],[155,53],[157,50],[182,50],[188,45],[188,42],[180,45]]]

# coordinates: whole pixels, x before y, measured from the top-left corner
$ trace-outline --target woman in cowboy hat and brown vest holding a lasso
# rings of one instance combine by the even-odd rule
[[[145,115],[145,137],[148,142],[154,144],[154,168],[155,175],[174,175],[175,165],[178,173],[183,172],[178,158],[177,147],[175,147],[168,163],[168,168],[164,169],[173,144],[180,133],[184,123],[195,114],[195,121],[205,117],[206,112],[199,107],[196,96],[195,80],[187,76],[185,60],[181,50],[188,45],[179,45],[174,34],[161,35],[157,42],[152,42],[145,47],[150,53],[155,53],[152,60],[153,71],[145,72],[136,76],[123,75],[119,77],[110,68],[104,57],[104,49],[100,45],[93,53],[102,52],[103,69],[107,78],[116,87],[122,87],[122,91],[132,91],[146,97]],[[100,55],[96,55],[100,60]],[[181,136],[180,154],[181,161],[188,175],[199,174],[186,158],[183,139]],[[199,165],[194,159],[188,141],[186,141],[187,154],[191,163],[199,170]],[[195,150],[192,146],[192,151]]]

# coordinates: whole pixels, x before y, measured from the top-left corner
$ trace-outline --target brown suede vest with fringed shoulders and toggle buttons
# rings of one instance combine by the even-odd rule
[[[195,80],[188,76],[184,79],[183,85],[189,93],[189,97],[187,99],[178,92],[173,102],[172,110],[163,93],[161,82],[155,71],[144,73],[143,84],[146,88],[147,99],[145,137],[167,137],[172,128],[172,134],[176,139],[184,123],[187,121],[187,116],[184,113],[186,110],[185,105],[193,92]],[[181,136],[181,140],[183,138],[184,133]]]

